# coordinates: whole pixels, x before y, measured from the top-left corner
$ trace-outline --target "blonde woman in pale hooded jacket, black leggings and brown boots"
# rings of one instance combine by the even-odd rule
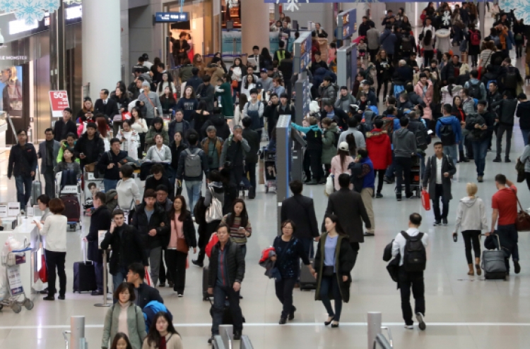
[[[478,188],[475,183],[467,183],[466,197],[461,198],[457,209],[457,224],[454,226],[453,237],[456,238],[459,228],[464,238],[466,259],[470,276],[475,275],[471,246],[475,252],[476,274],[481,275],[481,231],[488,231],[488,219],[485,214],[485,205],[480,197],[476,196]]]

